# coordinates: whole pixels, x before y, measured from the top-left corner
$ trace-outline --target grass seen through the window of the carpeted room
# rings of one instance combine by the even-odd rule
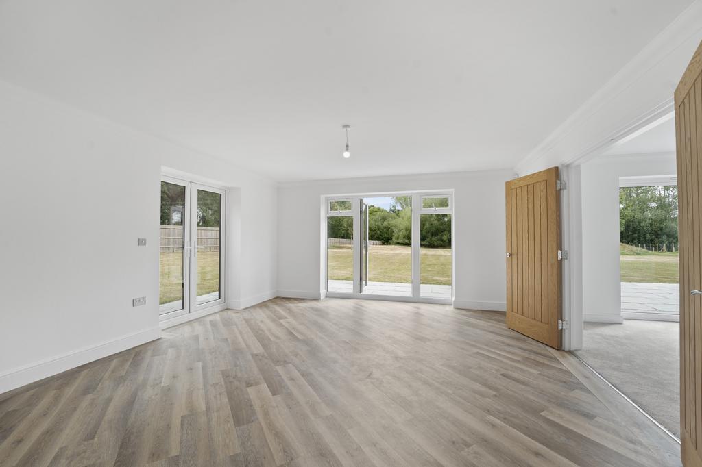
[[[619,245],[622,282],[677,284],[678,254],[650,252],[631,245]]]

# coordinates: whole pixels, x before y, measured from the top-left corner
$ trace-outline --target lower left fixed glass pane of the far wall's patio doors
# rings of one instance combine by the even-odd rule
[[[326,290],[353,292],[353,217],[326,218]]]

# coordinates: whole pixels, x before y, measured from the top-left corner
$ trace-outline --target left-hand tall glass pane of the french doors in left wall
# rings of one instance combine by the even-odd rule
[[[161,182],[159,312],[183,309],[185,187]]]

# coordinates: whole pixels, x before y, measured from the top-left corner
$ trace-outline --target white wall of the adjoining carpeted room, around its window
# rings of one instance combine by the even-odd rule
[[[581,166],[583,320],[622,323],[619,177],[675,174],[675,154],[601,156]]]

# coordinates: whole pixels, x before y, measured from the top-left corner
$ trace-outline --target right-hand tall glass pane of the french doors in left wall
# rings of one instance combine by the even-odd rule
[[[220,299],[222,195],[197,190],[197,302]]]

